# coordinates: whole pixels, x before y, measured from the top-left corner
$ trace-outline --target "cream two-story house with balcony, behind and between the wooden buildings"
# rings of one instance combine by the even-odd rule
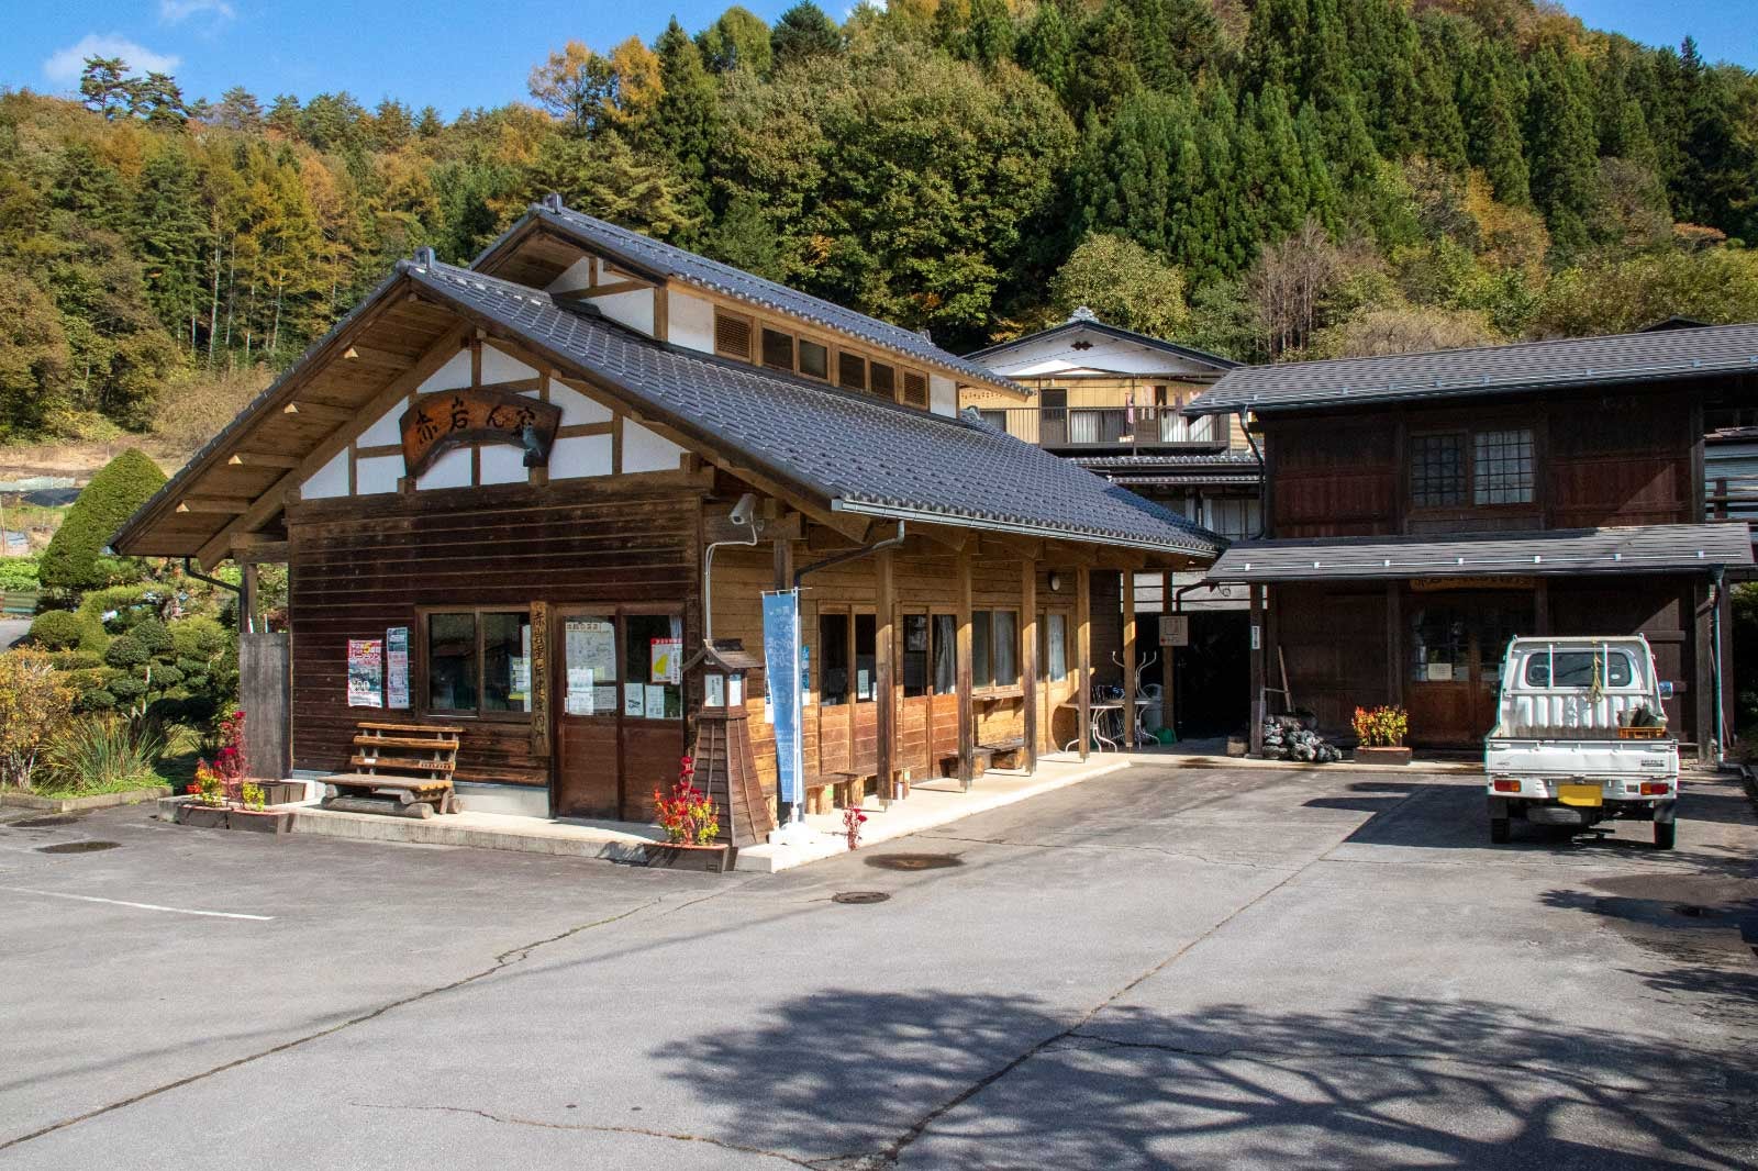
[[[960,406],[999,431],[1055,452],[1118,487],[1164,505],[1229,540],[1257,536],[1260,462],[1238,420],[1188,417],[1183,406],[1238,362],[1195,346],[1109,325],[1088,308],[1067,322],[969,355],[1027,387],[1020,404],[967,385]],[[1150,635],[1157,615],[1183,615],[1181,645],[1146,638],[1143,679],[1167,702],[1160,719],[1181,735],[1245,728],[1241,702],[1248,624],[1245,591],[1206,586],[1201,573],[1143,573],[1134,612]],[[1093,584],[1093,661],[1099,679],[1120,682],[1127,603],[1122,582]]]

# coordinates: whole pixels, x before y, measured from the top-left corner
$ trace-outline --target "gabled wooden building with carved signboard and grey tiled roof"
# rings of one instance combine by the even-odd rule
[[[962,387],[1025,399],[548,200],[469,269],[399,264],[116,547],[288,563],[295,770],[348,765],[376,714],[352,698],[403,703],[466,730],[457,777],[496,807],[635,821],[703,700],[673,665],[759,651],[761,594],[800,586],[805,772],[883,802],[1076,740],[1090,573],[1220,550],[960,418]],[[376,700],[371,659],[350,686],[399,633],[406,686],[389,658]],[[774,793],[761,679],[745,707]]]

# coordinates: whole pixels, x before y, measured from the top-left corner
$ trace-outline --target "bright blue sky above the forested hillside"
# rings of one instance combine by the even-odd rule
[[[243,84],[262,98],[348,90],[366,104],[399,97],[447,116],[526,97],[526,74],[566,39],[608,47],[652,40],[675,12],[708,25],[730,0],[670,5],[607,0],[7,0],[0,86],[65,93],[97,51],[137,69],[169,69],[190,97]],[[745,0],[774,19],[793,0]],[[825,4],[840,16],[846,4]],[[1598,28],[1649,44],[1696,35],[1704,55],[1758,69],[1753,0],[1568,0]]]

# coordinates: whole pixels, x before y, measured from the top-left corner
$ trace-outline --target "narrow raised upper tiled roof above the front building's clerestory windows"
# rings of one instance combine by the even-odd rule
[[[1025,387],[1002,378],[986,366],[949,353],[902,325],[891,325],[875,316],[846,309],[840,304],[763,280],[730,264],[698,257],[693,251],[666,244],[650,236],[642,236],[615,223],[571,211],[559,202],[534,204],[531,215],[538,216],[550,230],[575,239],[601,255],[608,255],[636,273],[679,280],[686,285],[696,285],[765,309],[816,322],[817,325],[851,334],[875,346],[958,371],[976,382],[1028,394]]]

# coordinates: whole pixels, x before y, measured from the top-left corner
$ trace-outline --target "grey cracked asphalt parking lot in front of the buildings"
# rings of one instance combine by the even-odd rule
[[[779,876],[14,823],[0,1167],[1751,1167],[1758,826],[1645,830],[1341,767]]]

